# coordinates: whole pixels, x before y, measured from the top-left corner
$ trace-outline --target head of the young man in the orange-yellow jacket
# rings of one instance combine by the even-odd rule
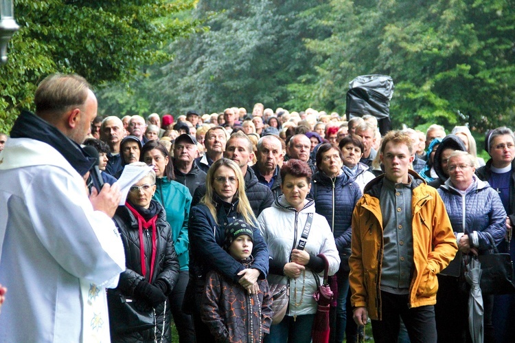
[[[409,165],[413,162],[413,156],[404,143],[388,142],[385,151],[380,155],[382,164],[385,165],[385,176],[396,184],[408,182]]]

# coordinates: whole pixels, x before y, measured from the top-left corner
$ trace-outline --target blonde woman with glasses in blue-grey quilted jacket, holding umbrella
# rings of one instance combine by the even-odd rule
[[[466,151],[450,153],[447,161],[449,178],[438,188],[450,223],[453,225],[458,253],[438,278],[435,319],[438,340],[471,342],[468,328],[470,286],[465,280],[464,266],[470,256],[488,253],[492,241],[504,239],[506,212],[501,198],[488,182],[476,175],[474,157]],[[493,296],[483,294],[484,342],[494,340],[492,324]]]

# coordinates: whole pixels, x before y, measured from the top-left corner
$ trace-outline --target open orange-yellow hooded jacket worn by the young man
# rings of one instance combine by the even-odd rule
[[[435,305],[436,274],[453,260],[457,252],[456,238],[437,190],[428,186],[415,171],[409,170],[409,175],[412,179],[413,276],[408,306]],[[353,307],[366,307],[373,320],[382,318],[380,279],[385,242],[379,196],[384,177],[381,175],[369,182],[352,213],[351,303]]]

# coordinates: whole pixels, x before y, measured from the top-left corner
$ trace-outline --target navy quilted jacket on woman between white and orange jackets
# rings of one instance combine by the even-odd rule
[[[345,172],[335,179],[321,171],[314,174],[309,197],[315,212],[327,219],[340,254],[350,252],[352,211],[361,195],[359,185]]]

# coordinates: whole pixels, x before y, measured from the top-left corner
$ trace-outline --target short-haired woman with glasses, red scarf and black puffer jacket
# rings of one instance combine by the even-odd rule
[[[146,166],[142,162],[130,165]],[[130,187],[125,206],[119,206],[113,217],[124,243],[126,271],[120,274],[118,286],[108,289],[112,342],[171,340],[170,304],[166,300],[179,279],[179,261],[165,210],[152,199],[155,183],[156,173],[150,170]],[[122,298],[132,300],[143,312],[155,313],[154,326],[122,331],[118,322],[129,318],[111,306]]]

